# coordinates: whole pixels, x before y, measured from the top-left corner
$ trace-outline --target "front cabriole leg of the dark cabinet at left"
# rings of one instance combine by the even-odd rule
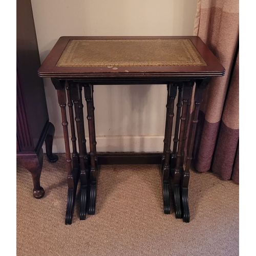
[[[42,171],[42,160],[44,158],[44,153],[42,148],[38,155],[30,157],[22,157],[19,159],[20,164],[24,166],[32,175],[33,179],[33,196],[36,199],[42,198],[45,195],[45,190],[40,186],[40,176]]]

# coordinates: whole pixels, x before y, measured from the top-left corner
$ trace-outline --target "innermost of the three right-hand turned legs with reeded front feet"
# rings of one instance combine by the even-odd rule
[[[172,140],[172,128],[173,128],[173,118],[174,118],[174,101],[177,94],[177,87],[173,85],[173,83],[168,84],[168,100],[167,100],[167,110],[168,116],[166,115],[166,147],[165,147],[165,158],[164,158],[164,166],[162,171],[162,189],[163,189],[163,205],[164,205],[164,213],[170,214],[170,165],[169,165],[169,158],[170,158],[170,143]]]

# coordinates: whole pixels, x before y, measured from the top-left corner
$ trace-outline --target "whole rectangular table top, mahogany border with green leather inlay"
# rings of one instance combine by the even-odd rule
[[[38,70],[41,77],[205,77],[225,69],[198,36],[62,36]]]

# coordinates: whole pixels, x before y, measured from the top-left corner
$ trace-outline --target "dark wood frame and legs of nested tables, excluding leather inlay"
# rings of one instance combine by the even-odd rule
[[[70,39],[189,39],[205,61],[205,66],[120,66],[113,71],[110,67],[59,67],[57,62]],[[131,53],[132,54],[132,53]],[[112,67],[111,67],[112,68]],[[118,70],[118,71],[117,71]],[[95,214],[97,179],[99,166],[96,151],[93,88],[99,84],[167,84],[166,124],[161,164],[164,214],[170,214],[170,195],[172,191],[176,218],[189,222],[188,184],[189,167],[192,160],[193,145],[203,92],[210,77],[223,76],[225,69],[217,58],[197,36],[165,37],[60,37],[52,51],[42,63],[38,74],[50,77],[57,90],[61,108],[62,126],[65,138],[68,169],[68,200],[65,223],[71,224],[78,180],[81,183],[80,220],[86,213]],[[195,110],[191,125],[189,107],[195,85]],[[84,133],[82,89],[87,102],[90,154],[86,149]],[[177,118],[173,151],[171,136],[174,119],[174,105],[178,92]],[[68,104],[72,155],[68,133],[66,105]],[[76,124],[75,124],[76,123]],[[76,130],[75,130],[76,127]],[[187,131],[187,127],[190,130]],[[186,134],[188,132],[188,138]],[[78,149],[76,143],[78,140]],[[184,165],[185,141],[187,141],[186,165]],[[79,152],[79,153],[78,153]]]

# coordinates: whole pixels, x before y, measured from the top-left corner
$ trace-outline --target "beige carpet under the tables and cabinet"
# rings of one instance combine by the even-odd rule
[[[42,199],[17,164],[17,255],[239,255],[239,185],[191,171],[190,222],[163,214],[157,165],[102,165],[96,214],[65,225],[65,155],[44,158]],[[78,203],[78,201],[77,201]]]

